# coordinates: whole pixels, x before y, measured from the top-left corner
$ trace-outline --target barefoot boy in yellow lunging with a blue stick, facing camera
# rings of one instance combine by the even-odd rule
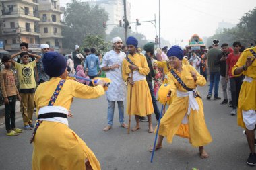
[[[212,142],[207,130],[203,113],[203,102],[197,92],[197,85],[203,86],[205,78],[191,65],[182,65],[183,52],[179,46],[172,46],[167,52],[171,69],[168,73],[171,97],[173,98],[166,114],[161,119],[158,144],[156,150],[162,148],[162,140],[166,136],[172,142],[175,134],[189,138],[189,142],[199,147],[201,158],[209,157],[203,146]],[[183,127],[183,129],[181,129]],[[150,148],[152,151],[153,148]]]

